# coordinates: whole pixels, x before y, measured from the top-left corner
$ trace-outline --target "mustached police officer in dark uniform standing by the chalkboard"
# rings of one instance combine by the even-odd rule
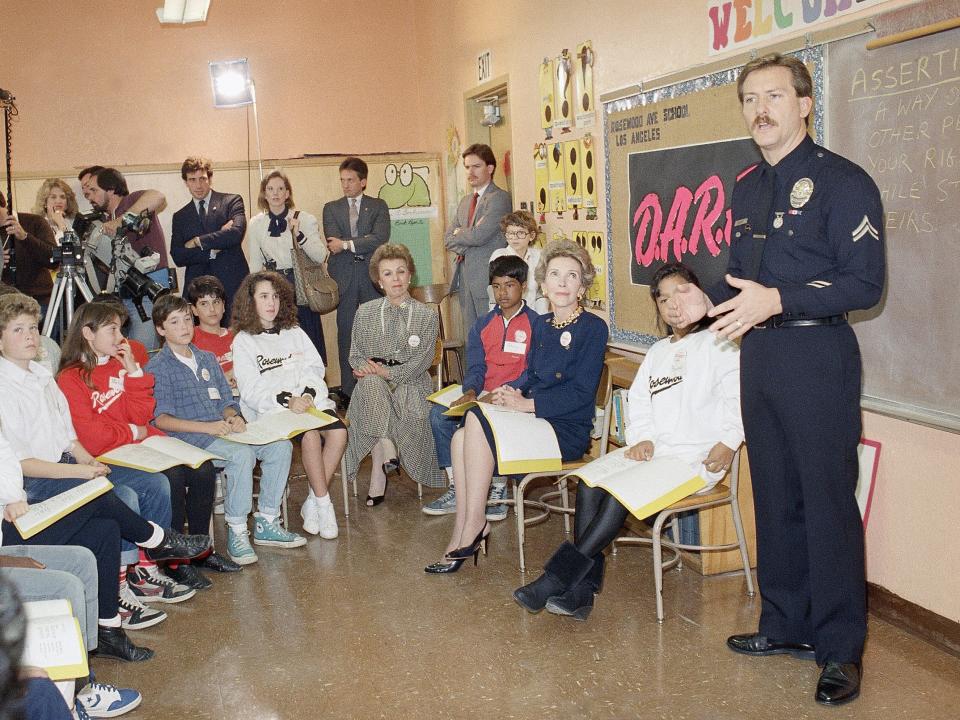
[[[883,292],[880,194],[866,172],[807,135],[813,84],[803,63],[769,55],[737,93],[764,161],[733,192],[725,282],[675,294],[679,326],[708,314],[743,336],[741,405],[763,596],[746,655],[814,657],[817,702],[860,692],[866,635],[863,525],[855,498],[860,351],[847,312]]]

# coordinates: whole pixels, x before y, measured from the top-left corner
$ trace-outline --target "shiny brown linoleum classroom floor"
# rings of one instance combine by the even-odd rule
[[[755,629],[759,615],[742,576],[669,572],[658,625],[650,550],[623,548],[609,558],[587,622],[531,615],[511,592],[538,576],[562,538],[559,518],[528,529],[526,576],[512,512],[479,567],[430,576],[423,566],[439,559],[452,518],[421,513],[410,481],[392,482],[376,508],[363,505],[365,487],[344,519],[337,479],[337,540],[257,547],[259,563],[210,574],[212,589],[162,606],[166,622],[132,633],[156,650],[153,660],[95,659],[102,681],[143,693],[126,717],[960,717],[960,659],[873,616],[861,698],[820,707],[813,662],[726,649],[727,635]],[[300,530],[306,485],[291,488],[291,526]]]

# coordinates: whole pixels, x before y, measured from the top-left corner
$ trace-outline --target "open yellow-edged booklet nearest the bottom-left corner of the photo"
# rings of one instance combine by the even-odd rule
[[[51,680],[90,674],[80,623],[69,600],[42,600],[23,604],[27,637],[21,665],[43,668]]]

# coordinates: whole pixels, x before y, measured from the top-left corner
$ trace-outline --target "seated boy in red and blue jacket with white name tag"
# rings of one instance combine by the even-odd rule
[[[490,262],[490,287],[497,305],[470,329],[463,396],[451,406],[482,398],[502,385],[522,382],[532,346],[533,322],[538,317],[523,300],[526,285],[527,264],[519,257],[505,255]],[[450,486],[443,495],[423,506],[427,515],[449,515],[457,510],[450,441],[460,427],[461,418],[444,415],[445,410],[440,405],[431,408],[430,427],[437,461],[446,471]],[[503,500],[506,495],[506,483],[502,478],[494,478],[489,499]],[[487,507],[488,520],[503,520],[506,516],[505,505]]]

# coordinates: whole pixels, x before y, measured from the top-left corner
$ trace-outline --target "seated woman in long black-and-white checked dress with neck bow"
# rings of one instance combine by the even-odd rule
[[[410,297],[414,265],[404,245],[381,245],[370,258],[370,279],[384,297],[357,308],[350,366],[357,385],[347,417],[347,475],[368,454],[373,461],[367,505],[383,502],[387,474],[402,464],[416,482],[446,487],[430,431],[428,370],[436,353],[435,310]],[[397,455],[396,446],[400,453]]]

